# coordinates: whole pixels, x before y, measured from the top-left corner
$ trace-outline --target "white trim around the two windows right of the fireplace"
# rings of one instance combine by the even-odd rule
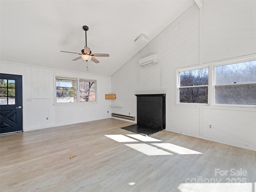
[[[176,68],[175,69],[175,105],[177,106],[202,106],[203,108],[215,108],[215,109],[229,109],[232,108],[232,110],[254,110],[256,108],[255,105],[230,105],[230,104],[215,104],[215,86],[220,85],[231,85],[231,84],[220,84],[215,85],[215,67],[216,66],[222,66],[222,65],[228,65],[228,64],[235,64],[240,62],[247,62],[251,60],[256,60],[256,54],[249,55],[249,56],[241,56],[237,58],[230,58],[226,60],[221,61],[215,61],[215,62],[209,62],[203,65],[195,65],[195,66],[189,66],[189,67],[183,67],[183,68]],[[180,96],[179,96],[179,88],[180,88],[180,72],[189,71],[189,70],[196,70],[201,68],[209,68],[208,71],[208,104],[201,104],[201,103],[180,103]],[[248,83],[254,83],[254,82],[242,82],[237,84],[248,84]]]

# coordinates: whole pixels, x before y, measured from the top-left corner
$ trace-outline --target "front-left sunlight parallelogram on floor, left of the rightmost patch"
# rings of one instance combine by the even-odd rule
[[[138,144],[124,144],[130,148],[133,148],[139,152],[144,153],[145,155],[172,155],[169,152],[166,152],[162,149],[158,149],[156,147],[150,146],[148,144],[145,143],[138,143]]]

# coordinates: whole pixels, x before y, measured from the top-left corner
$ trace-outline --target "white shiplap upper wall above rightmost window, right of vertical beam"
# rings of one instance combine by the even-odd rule
[[[256,53],[256,1],[204,1],[204,62]]]

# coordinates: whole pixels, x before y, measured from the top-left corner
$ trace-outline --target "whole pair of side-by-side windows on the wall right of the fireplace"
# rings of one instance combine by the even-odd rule
[[[240,62],[177,69],[176,74],[177,104],[256,106],[255,56]]]

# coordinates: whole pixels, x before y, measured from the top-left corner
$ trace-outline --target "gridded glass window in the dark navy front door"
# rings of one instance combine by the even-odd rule
[[[0,105],[15,104],[15,80],[0,79]]]

